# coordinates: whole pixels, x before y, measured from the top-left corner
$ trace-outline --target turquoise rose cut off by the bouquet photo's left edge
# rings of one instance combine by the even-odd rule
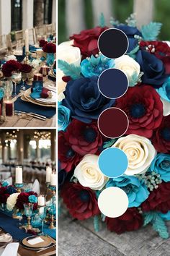
[[[65,131],[70,122],[71,111],[58,103],[58,131]]]

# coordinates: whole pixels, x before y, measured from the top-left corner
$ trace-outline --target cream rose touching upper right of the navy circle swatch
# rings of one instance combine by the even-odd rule
[[[115,68],[122,70],[122,72],[127,75],[129,81],[134,73],[136,73],[137,76],[140,74],[140,65],[135,59],[128,55],[123,55],[115,59]]]

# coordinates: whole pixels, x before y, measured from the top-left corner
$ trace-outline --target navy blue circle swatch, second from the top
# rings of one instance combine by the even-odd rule
[[[120,98],[128,90],[128,77],[120,69],[106,69],[99,76],[99,91],[107,98]]]

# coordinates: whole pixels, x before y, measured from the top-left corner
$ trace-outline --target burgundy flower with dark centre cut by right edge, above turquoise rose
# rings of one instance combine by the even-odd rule
[[[170,115],[163,117],[160,127],[153,133],[151,140],[159,152],[170,152]]]

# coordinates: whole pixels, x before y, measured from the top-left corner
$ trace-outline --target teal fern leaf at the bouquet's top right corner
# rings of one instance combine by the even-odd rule
[[[143,40],[156,40],[161,30],[161,23],[150,22],[148,25],[141,27],[141,33]]]

